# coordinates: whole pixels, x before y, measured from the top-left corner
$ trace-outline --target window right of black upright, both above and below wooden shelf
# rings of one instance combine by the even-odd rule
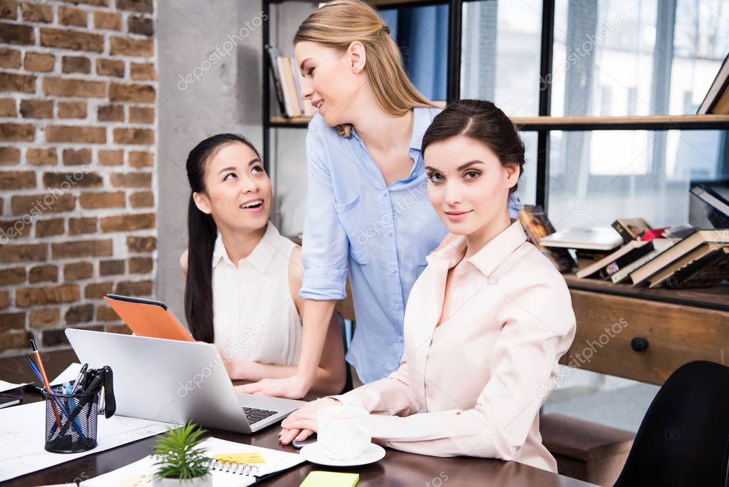
[[[729,0],[557,0],[552,114],[692,114],[729,51]],[[550,134],[556,227],[688,221],[695,180],[726,179],[725,130]]]

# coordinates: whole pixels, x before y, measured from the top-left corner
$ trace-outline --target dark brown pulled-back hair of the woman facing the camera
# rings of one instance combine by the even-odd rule
[[[524,143],[513,122],[498,106],[486,100],[453,101],[437,114],[425,131],[421,152],[434,142],[464,136],[494,151],[502,165],[518,165],[524,172]],[[509,188],[509,194],[517,185]]]

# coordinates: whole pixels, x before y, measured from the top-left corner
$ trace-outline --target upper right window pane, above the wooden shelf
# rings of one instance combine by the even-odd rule
[[[727,0],[557,0],[552,114],[695,113],[729,51],[727,17]]]

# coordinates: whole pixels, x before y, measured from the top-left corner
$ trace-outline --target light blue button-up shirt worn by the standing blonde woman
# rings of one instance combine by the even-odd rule
[[[349,273],[356,332],[346,359],[363,382],[399,367],[410,289],[427,265],[426,255],[448,233],[428,200],[420,150],[425,130],[439,112],[413,109],[413,168],[406,179],[389,186],[354,128],[344,138],[319,114],[309,123],[299,294],[311,300],[343,299]],[[518,209],[521,203],[512,197],[512,217]]]

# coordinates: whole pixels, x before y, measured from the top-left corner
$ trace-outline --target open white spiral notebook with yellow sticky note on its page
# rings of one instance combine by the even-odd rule
[[[297,453],[271,450],[243,443],[235,443],[209,437],[200,443],[210,459],[213,487],[252,486],[262,478],[302,464],[304,459]],[[236,459],[248,459],[236,463]],[[155,472],[154,456],[145,456],[112,472],[85,480],[79,487],[147,487],[152,486]]]

